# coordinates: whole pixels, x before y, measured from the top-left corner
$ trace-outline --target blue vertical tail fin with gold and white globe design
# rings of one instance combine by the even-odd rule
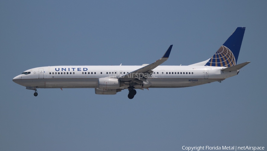
[[[205,66],[230,67],[236,65],[246,27],[237,27]]]

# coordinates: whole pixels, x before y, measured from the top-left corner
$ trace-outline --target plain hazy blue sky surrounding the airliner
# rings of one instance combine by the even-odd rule
[[[266,146],[266,1],[0,1],[0,150]],[[96,95],[12,82],[55,65],[207,60],[246,27],[239,75],[191,88]]]

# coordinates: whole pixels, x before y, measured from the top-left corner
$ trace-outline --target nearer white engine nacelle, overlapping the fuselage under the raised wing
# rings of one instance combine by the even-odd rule
[[[103,90],[119,89],[123,85],[125,85],[124,82],[121,82],[117,78],[107,77],[107,78],[99,78],[98,79],[98,88],[103,89]]]

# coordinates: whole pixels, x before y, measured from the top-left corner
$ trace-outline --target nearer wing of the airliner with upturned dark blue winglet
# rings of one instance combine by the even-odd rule
[[[118,77],[118,79],[123,80],[123,81],[131,81],[131,80],[134,80],[138,77],[138,76],[133,77],[131,75],[140,75],[141,74],[141,77],[142,77],[142,74],[144,76],[144,73],[150,74],[151,72],[153,72],[152,71],[153,69],[155,69],[157,66],[159,66],[161,63],[165,62],[169,58],[169,55],[171,53],[171,48],[172,48],[172,45],[170,45],[170,47],[168,48],[166,53],[159,60],[157,60],[153,63],[150,63],[149,65],[146,65],[142,68],[139,68],[135,71],[129,72],[128,74],[124,74],[124,75]],[[141,81],[146,81],[146,78],[138,78],[138,79]]]

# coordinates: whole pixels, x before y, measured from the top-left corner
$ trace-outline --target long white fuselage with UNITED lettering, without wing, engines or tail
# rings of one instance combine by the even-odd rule
[[[33,68],[20,74],[13,81],[19,85],[35,88],[98,88],[98,79],[118,78],[142,66],[45,66]],[[223,72],[225,67],[214,66],[158,66],[153,69],[147,84],[135,88],[182,88],[222,81],[237,75],[238,71]],[[178,74],[179,73],[179,74]],[[129,83],[120,89],[127,89]]]

